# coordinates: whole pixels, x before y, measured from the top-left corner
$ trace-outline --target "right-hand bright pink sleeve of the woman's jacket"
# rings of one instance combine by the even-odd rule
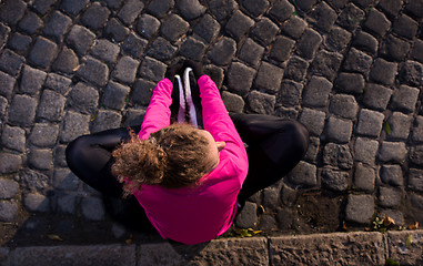
[[[199,79],[201,105],[203,108],[203,125],[216,142],[225,142],[221,157],[229,157],[234,166],[246,172],[248,156],[244,144],[228,114],[215,83],[208,75]],[[245,176],[243,176],[245,178]],[[241,182],[243,182],[243,178]]]

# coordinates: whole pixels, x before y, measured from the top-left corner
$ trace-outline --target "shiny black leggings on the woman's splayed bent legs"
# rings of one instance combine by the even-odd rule
[[[295,121],[270,115],[231,113],[230,116],[242,141],[248,144],[249,173],[238,197],[243,203],[255,192],[276,183],[300,162],[309,145],[309,132]],[[140,127],[131,129],[138,133]],[[129,140],[129,130],[108,130],[72,141],[66,150],[69,168],[99,192],[120,197],[122,184],[110,172],[111,153]],[[133,196],[127,202],[142,212]]]

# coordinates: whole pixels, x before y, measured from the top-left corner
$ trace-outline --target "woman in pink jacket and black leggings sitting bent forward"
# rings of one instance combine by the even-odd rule
[[[204,130],[170,125],[170,71],[153,91],[139,139],[118,129],[79,137],[67,149],[77,176],[108,195],[134,195],[163,238],[184,244],[226,232],[236,203],[278,182],[309,143],[296,122],[258,114],[230,117],[214,82],[199,69],[194,65]]]

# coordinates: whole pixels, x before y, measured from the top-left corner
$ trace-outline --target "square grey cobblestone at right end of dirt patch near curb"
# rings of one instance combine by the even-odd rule
[[[345,218],[346,221],[367,224],[374,213],[374,198],[371,195],[349,195]]]

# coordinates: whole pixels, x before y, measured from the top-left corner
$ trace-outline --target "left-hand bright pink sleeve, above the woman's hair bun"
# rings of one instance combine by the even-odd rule
[[[149,139],[151,133],[169,126],[171,115],[169,106],[172,104],[172,89],[173,84],[169,79],[161,80],[154,88],[139,133],[141,140]]]

